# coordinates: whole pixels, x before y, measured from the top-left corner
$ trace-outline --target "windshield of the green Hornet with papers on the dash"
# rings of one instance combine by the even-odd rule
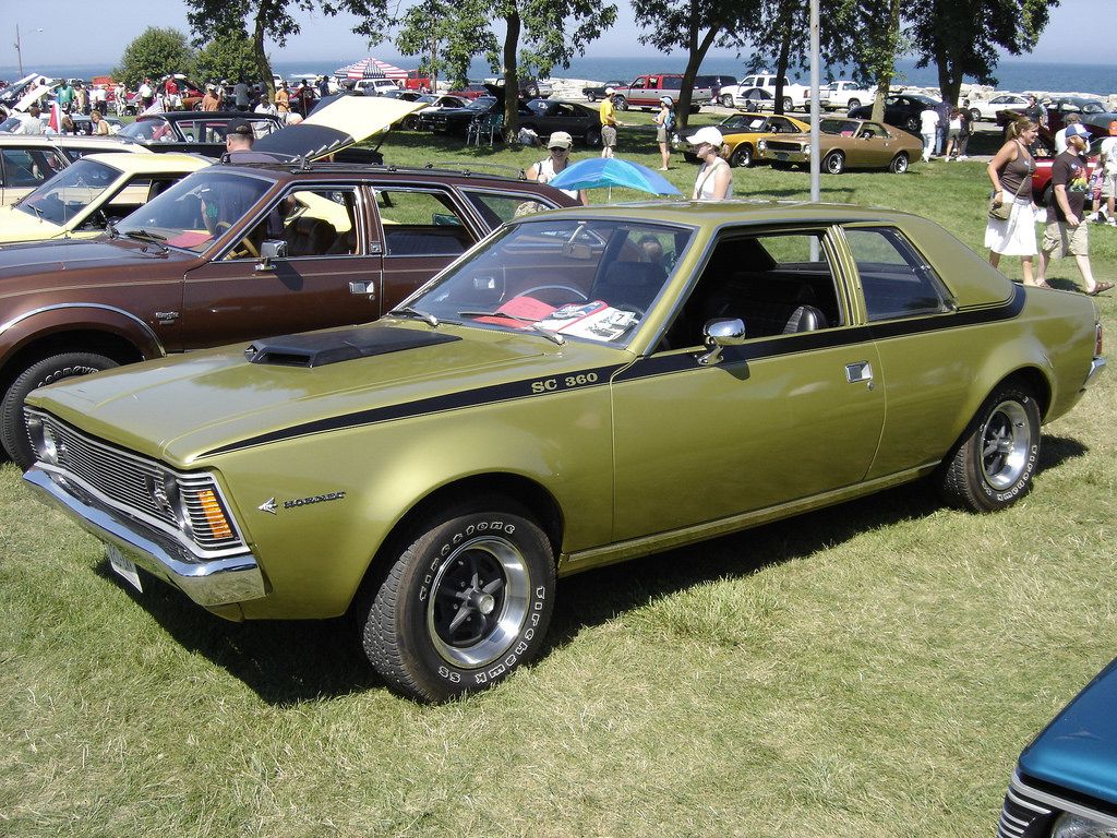
[[[693,236],[628,220],[523,222],[405,305],[439,321],[627,346]]]

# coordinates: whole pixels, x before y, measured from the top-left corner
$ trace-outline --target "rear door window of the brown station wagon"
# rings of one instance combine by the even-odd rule
[[[474,244],[445,192],[378,189],[386,256],[456,256]]]

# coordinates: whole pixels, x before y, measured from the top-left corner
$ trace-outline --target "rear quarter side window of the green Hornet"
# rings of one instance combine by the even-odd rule
[[[870,321],[942,314],[942,282],[910,242],[890,227],[847,229]]]

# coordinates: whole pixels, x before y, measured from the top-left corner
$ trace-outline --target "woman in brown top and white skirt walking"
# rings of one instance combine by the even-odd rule
[[[1037,285],[1032,274],[1035,247],[1035,204],[1032,201],[1032,174],[1035,161],[1028,146],[1035,142],[1039,126],[1029,118],[1009,126],[1008,141],[985,168],[993,183],[993,203],[1011,203],[1004,221],[990,217],[985,227],[985,247],[994,268],[1002,256],[1019,256],[1024,285]],[[1047,286],[1047,283],[1043,283]]]

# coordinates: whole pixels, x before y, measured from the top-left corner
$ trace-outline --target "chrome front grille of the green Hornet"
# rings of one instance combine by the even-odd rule
[[[165,479],[171,477],[185,508],[189,530],[187,537],[206,551],[244,545],[228,505],[210,475],[172,472],[153,460],[87,437],[49,413],[32,410],[27,412],[41,420],[45,430],[54,436],[58,468],[76,477],[113,505],[132,515],[139,514],[147,521],[157,522],[162,525],[161,528],[182,537],[183,527],[180,526],[173,504],[159,503],[153,492],[155,487],[164,486]],[[220,505],[231,535],[222,536],[213,532],[203,510],[202,498],[206,493],[212,493],[213,501]]]

